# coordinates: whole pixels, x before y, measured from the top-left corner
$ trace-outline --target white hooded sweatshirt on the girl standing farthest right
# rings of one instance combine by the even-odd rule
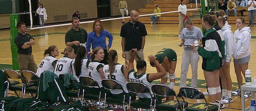
[[[237,29],[234,34],[233,58],[241,59],[250,55],[251,44],[250,27],[244,27],[240,31]]]

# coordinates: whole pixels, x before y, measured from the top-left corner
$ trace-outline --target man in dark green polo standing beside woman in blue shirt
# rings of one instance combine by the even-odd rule
[[[84,28],[80,28],[80,21],[77,17],[71,19],[72,28],[65,35],[65,44],[72,47],[76,54],[80,46],[86,46],[87,32]],[[75,55],[76,57],[76,55]]]

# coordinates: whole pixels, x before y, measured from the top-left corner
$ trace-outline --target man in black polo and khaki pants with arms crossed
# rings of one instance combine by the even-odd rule
[[[19,22],[16,25],[19,33],[15,36],[14,42],[18,48],[18,63],[20,67],[20,73],[23,70],[29,70],[36,73],[36,63],[32,53],[32,45],[36,44],[34,38],[32,38],[26,32],[26,24]]]

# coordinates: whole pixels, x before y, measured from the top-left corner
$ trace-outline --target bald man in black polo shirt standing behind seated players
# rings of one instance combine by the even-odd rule
[[[147,30],[143,23],[138,21],[139,13],[132,10],[130,13],[131,20],[125,23],[121,28],[120,36],[122,37],[122,57],[128,60],[131,56],[130,50],[137,49],[137,53],[141,59],[144,59],[144,45],[145,36],[147,36]],[[137,62],[139,59],[135,58]],[[125,61],[126,62],[126,61]]]

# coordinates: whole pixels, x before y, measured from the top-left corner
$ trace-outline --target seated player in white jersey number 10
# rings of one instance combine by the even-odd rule
[[[64,56],[57,61],[54,73],[58,76],[63,73],[71,74],[71,61],[75,56],[74,49],[66,47],[61,54],[64,54]]]

